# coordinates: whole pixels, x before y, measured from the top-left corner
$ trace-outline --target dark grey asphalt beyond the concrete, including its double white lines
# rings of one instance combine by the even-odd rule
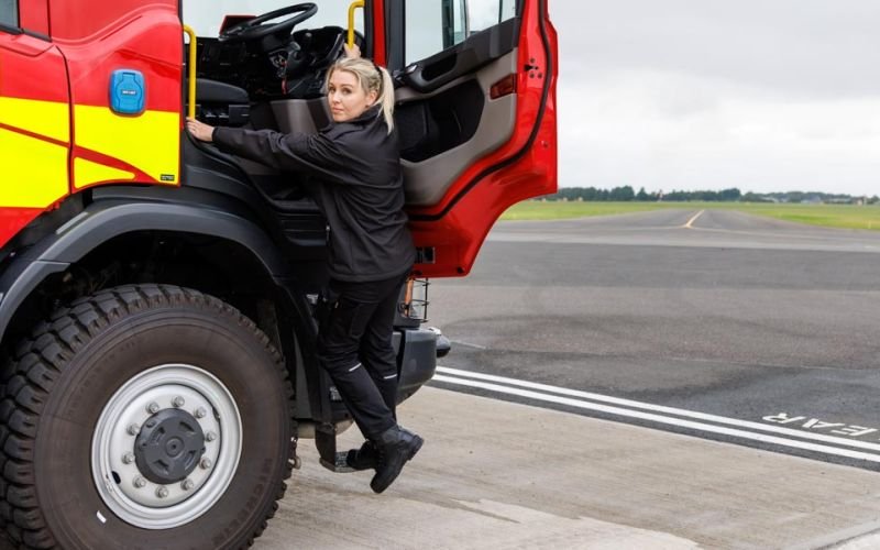
[[[878,232],[724,210],[501,222],[430,287],[433,384],[877,470],[878,267]]]

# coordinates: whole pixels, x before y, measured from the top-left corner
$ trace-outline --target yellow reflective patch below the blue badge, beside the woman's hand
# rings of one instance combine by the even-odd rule
[[[179,113],[145,111],[138,117],[122,117],[107,107],[74,106],[74,123],[78,146],[128,163],[156,182],[177,184]]]

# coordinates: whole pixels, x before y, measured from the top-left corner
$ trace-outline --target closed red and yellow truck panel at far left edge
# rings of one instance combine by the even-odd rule
[[[70,107],[46,2],[0,0],[0,245],[67,196]]]

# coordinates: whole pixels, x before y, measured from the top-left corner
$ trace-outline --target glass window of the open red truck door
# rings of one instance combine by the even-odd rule
[[[516,0],[406,0],[406,64],[516,16]]]

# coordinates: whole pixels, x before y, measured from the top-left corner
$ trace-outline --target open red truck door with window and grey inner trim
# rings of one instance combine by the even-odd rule
[[[509,206],[557,189],[557,35],[547,2],[384,2],[422,276],[468,274]]]

